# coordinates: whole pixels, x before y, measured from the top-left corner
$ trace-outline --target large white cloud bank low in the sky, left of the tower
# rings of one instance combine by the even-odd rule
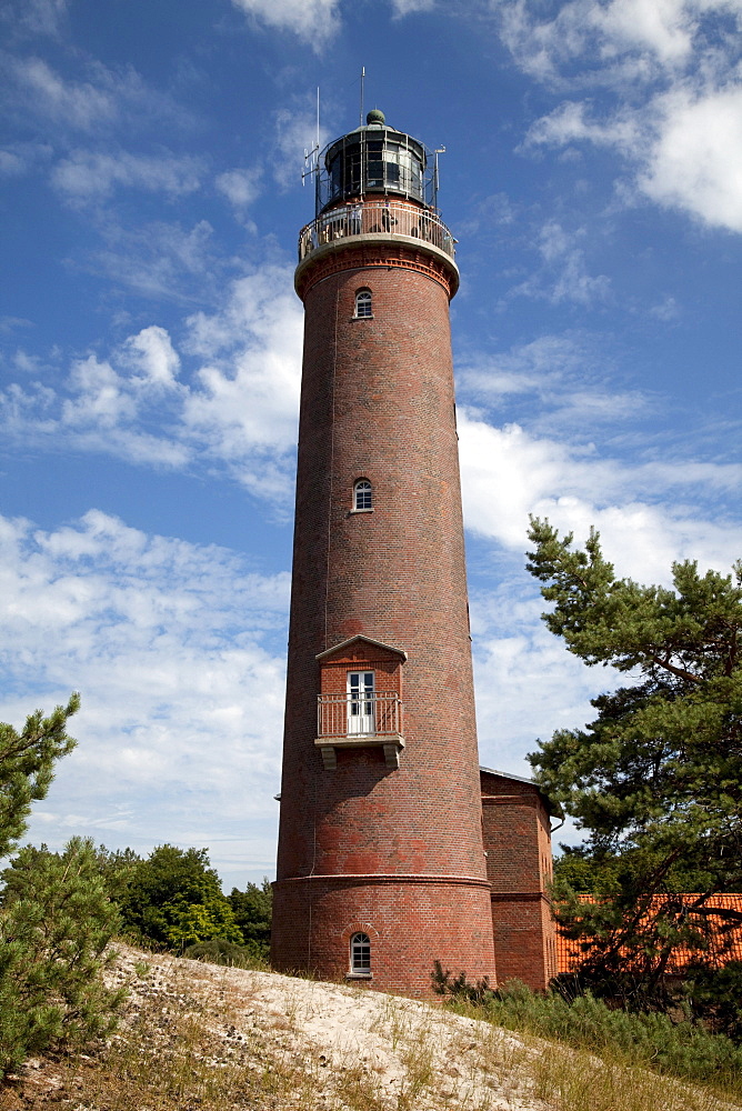
[[[283,661],[268,643],[283,639],[288,574],[91,510],[50,532],[0,518],[0,587],[2,720],[82,692],[40,835],[98,829],[140,848],[208,819],[214,861],[239,831],[270,871]]]

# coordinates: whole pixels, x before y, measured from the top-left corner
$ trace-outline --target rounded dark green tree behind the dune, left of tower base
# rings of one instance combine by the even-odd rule
[[[124,925],[137,939],[177,950],[211,938],[242,942],[205,849],[163,844],[147,860],[127,859],[113,874],[122,884]]]

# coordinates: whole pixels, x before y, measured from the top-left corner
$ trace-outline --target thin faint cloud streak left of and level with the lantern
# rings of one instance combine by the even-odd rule
[[[193,157],[99,154],[77,150],[57,163],[52,181],[68,198],[77,202],[110,196],[114,188],[146,189],[180,197],[194,192],[201,182],[202,167]]]

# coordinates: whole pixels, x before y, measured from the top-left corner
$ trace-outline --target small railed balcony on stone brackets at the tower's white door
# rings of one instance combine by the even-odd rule
[[[328,771],[338,767],[338,749],[380,747],[388,768],[399,768],[404,748],[402,702],[397,694],[319,694],[317,738]]]

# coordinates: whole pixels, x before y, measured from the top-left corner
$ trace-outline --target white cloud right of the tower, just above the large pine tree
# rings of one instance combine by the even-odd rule
[[[523,550],[534,513],[579,539],[595,526],[620,573],[640,580],[666,581],[676,559],[724,570],[739,558],[739,522],[710,510],[720,493],[739,489],[739,464],[625,463],[465,411],[459,433],[467,524],[505,549]]]

